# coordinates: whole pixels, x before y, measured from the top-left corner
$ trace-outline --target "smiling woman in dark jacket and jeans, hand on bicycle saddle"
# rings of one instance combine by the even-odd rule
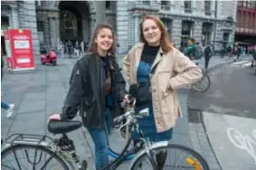
[[[109,24],[99,24],[90,41],[85,56],[76,62],[71,73],[70,90],[64,101],[62,114],[50,119],[72,119],[80,107],[80,114],[95,145],[96,169],[109,165],[109,121],[122,113],[120,102],[126,93],[126,81],[122,77],[115,58],[116,37]],[[81,102],[82,101],[82,102]],[[111,120],[110,120],[111,121]]]

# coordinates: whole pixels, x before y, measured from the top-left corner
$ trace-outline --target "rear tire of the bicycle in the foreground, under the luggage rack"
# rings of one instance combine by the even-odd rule
[[[62,159],[62,157],[58,156],[57,154],[52,152],[52,150],[50,150],[50,149],[48,149],[44,146],[35,146],[35,145],[26,145],[26,144],[17,144],[17,145],[14,145],[14,146],[9,146],[5,150],[3,150],[1,152],[1,169],[4,169],[2,167],[2,163],[3,163],[3,158],[5,158],[5,156],[8,156],[10,153],[11,154],[14,153],[14,150],[16,150],[16,149],[24,149],[24,148],[35,148],[39,151],[42,151],[42,152],[45,152],[45,153],[49,154],[50,156],[53,155],[52,158],[54,158],[57,162],[60,163],[60,165],[62,165],[62,170],[69,170],[68,165]]]

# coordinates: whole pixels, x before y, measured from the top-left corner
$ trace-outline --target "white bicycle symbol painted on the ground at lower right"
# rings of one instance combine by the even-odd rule
[[[237,129],[227,127],[227,135],[232,144],[242,150],[247,151],[247,153],[254,159],[254,164],[256,164],[256,153],[252,146],[256,146],[256,129],[253,129],[251,133],[255,141],[248,135],[242,136],[242,133]]]

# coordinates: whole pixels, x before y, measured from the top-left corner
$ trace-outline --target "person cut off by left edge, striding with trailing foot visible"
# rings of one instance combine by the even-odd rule
[[[5,67],[5,59],[4,59],[3,49],[1,47],[1,81],[3,80],[4,76],[4,67]],[[11,118],[14,112],[14,104],[8,104],[1,100],[1,109],[5,109],[6,111],[6,118]]]

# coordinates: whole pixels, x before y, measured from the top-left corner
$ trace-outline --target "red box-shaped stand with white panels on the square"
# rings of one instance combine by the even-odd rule
[[[8,69],[10,71],[34,70],[31,30],[8,29],[4,33]]]

